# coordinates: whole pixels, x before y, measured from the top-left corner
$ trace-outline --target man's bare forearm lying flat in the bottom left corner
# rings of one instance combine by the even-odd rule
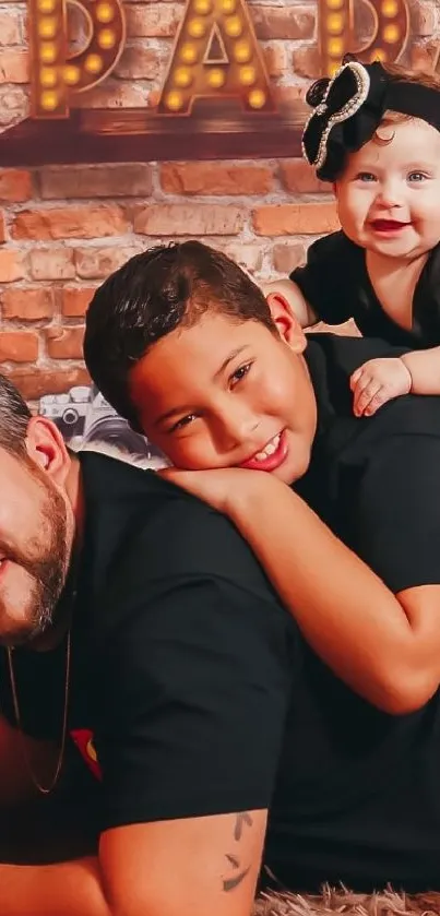
[[[0,865],[1,916],[110,916],[96,857]]]

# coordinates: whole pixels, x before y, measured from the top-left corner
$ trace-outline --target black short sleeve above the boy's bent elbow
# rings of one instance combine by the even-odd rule
[[[396,594],[440,584],[440,438],[401,435],[378,442],[349,514],[352,546]]]

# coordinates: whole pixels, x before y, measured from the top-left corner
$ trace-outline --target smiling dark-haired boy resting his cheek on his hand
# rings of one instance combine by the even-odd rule
[[[439,596],[436,587],[420,603],[416,586],[427,566],[425,556],[424,572],[416,562],[425,548],[409,510],[405,546],[399,548],[403,526],[389,536],[402,509],[394,454],[401,426],[384,426],[382,416],[359,425],[345,384],[367,354],[388,349],[362,338],[317,338],[306,352],[282,301],[270,310],[240,267],[193,241],[139,254],[103,284],[87,312],[84,352],[104,396],[183,468],[171,471],[171,480],[230,515],[316,652],[371,702],[404,712],[423,705],[440,680]],[[413,400],[401,403],[408,432]],[[440,398],[425,405],[435,413],[428,428],[440,428]],[[423,414],[417,405],[418,431]],[[420,480],[431,459],[437,467],[435,451],[424,452]],[[326,466],[337,481],[328,490]],[[355,495],[347,489],[354,479]],[[392,591],[285,486],[293,483],[322,514],[336,486],[344,536]],[[424,511],[421,498],[414,511]],[[425,520],[432,533],[435,522]],[[432,550],[437,568],[429,542],[425,552]]]

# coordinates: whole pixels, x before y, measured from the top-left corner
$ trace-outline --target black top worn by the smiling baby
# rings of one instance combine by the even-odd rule
[[[430,251],[417,282],[411,331],[384,312],[368,276],[365,249],[343,231],[312,242],[306,264],[296,267],[290,279],[317,317],[329,324],[343,324],[354,318],[364,335],[396,346],[414,349],[440,345],[440,243]]]

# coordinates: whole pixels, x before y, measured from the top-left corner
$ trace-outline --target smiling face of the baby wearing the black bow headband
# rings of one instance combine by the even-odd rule
[[[362,248],[409,260],[440,240],[440,133],[412,118],[378,134],[389,142],[366,143],[336,182],[341,225]]]

